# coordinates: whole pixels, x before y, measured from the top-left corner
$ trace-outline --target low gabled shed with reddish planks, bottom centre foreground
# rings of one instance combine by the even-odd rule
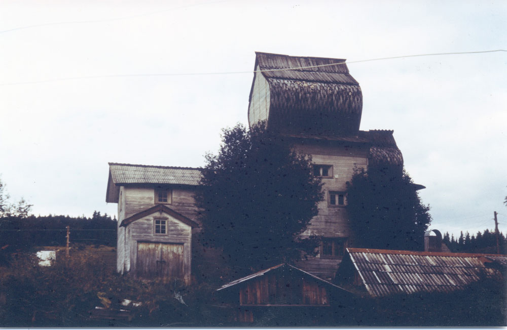
[[[291,322],[282,321],[282,325],[304,321],[299,317],[311,320],[313,314],[331,319],[337,302],[351,297],[343,288],[289,264],[224,284],[217,293],[223,306],[230,308],[234,321],[261,325],[268,314],[276,315],[279,320],[290,316]]]

